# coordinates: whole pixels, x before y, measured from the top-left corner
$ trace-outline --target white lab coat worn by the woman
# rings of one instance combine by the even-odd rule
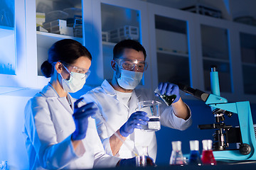
[[[69,97],[73,108],[75,99]],[[28,101],[24,133],[30,169],[115,166],[119,158],[105,154],[92,118],[88,118],[85,139],[74,150],[70,136],[75,131],[75,123],[70,103],[65,97],[60,98],[50,84]]]

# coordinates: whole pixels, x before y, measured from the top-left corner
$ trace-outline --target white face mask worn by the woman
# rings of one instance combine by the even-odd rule
[[[61,74],[60,76],[62,77]],[[71,72],[69,80],[63,79],[62,77],[64,91],[70,93],[75,93],[76,91],[79,91],[85,85],[86,78],[87,77],[85,77],[85,74],[77,72]]]

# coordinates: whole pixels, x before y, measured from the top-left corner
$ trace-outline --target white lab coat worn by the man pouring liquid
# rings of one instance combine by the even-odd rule
[[[134,89],[129,101],[129,106],[125,106],[117,100],[117,94],[107,80],[103,81],[101,86],[92,89],[92,91],[88,91],[83,97],[85,98],[86,103],[93,101],[97,104],[100,108],[99,112],[102,115],[102,118],[104,118],[111,126],[111,128],[107,127],[100,118],[96,118],[97,132],[100,135],[105,151],[110,155],[112,155],[110,136],[126,123],[129,116],[135,112],[139,101],[149,101],[154,99],[151,91],[146,89]],[[178,130],[186,130],[192,123],[191,116],[188,120],[176,117],[171,106],[161,104],[159,108],[161,113],[161,125]],[[154,159],[154,161],[156,160],[155,132],[144,132],[135,129],[125,141],[130,147],[136,148],[139,154],[142,153],[143,146],[148,146],[149,156]],[[129,148],[122,145],[116,156],[120,158],[131,158],[134,157],[134,154]]]

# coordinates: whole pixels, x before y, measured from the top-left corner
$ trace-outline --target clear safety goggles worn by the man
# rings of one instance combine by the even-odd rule
[[[132,71],[135,66],[138,72],[146,71],[148,64],[142,60],[115,59],[119,67],[125,70]]]

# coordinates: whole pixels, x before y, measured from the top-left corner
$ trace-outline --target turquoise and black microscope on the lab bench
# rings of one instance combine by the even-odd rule
[[[179,89],[204,101],[210,106],[215,117],[215,123],[198,125],[201,130],[214,129],[213,155],[218,161],[256,160],[256,139],[252,123],[252,114],[249,101],[228,103],[226,98],[220,96],[218,72],[216,67],[211,67],[210,87],[212,94],[192,89],[189,86],[178,84]],[[239,127],[225,125],[224,115],[231,117],[238,114]],[[238,143],[239,149],[227,149],[230,143]]]

